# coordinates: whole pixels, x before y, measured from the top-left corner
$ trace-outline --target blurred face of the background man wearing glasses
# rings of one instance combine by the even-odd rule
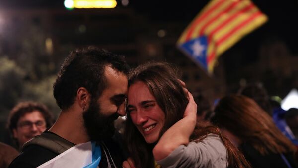
[[[42,113],[33,111],[25,113],[17,122],[16,129],[13,129],[13,137],[17,139],[20,147],[36,135],[46,130],[46,121]]]

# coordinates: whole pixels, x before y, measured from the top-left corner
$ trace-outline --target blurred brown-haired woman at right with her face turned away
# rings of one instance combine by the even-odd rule
[[[296,168],[295,146],[272,118],[252,99],[226,96],[215,108],[212,122],[231,138],[254,168]]]

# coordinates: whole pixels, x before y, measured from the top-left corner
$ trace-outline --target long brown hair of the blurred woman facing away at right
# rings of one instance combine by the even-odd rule
[[[242,142],[250,143],[261,154],[294,153],[295,146],[252,99],[242,95],[226,96],[214,111],[212,121],[216,125],[229,130]]]

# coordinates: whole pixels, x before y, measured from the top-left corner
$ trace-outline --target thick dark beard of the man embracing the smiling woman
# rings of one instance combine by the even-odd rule
[[[118,113],[104,116],[101,111],[100,104],[91,100],[89,108],[83,112],[84,125],[91,141],[106,140],[115,133],[114,120],[119,117]]]

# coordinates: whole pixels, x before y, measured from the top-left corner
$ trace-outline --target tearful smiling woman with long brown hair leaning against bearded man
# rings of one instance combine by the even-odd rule
[[[153,168],[157,161],[162,168],[249,168],[218,128],[196,125],[196,111],[192,95],[169,64],[134,69],[129,76],[125,127],[134,163],[128,160],[123,167]]]

